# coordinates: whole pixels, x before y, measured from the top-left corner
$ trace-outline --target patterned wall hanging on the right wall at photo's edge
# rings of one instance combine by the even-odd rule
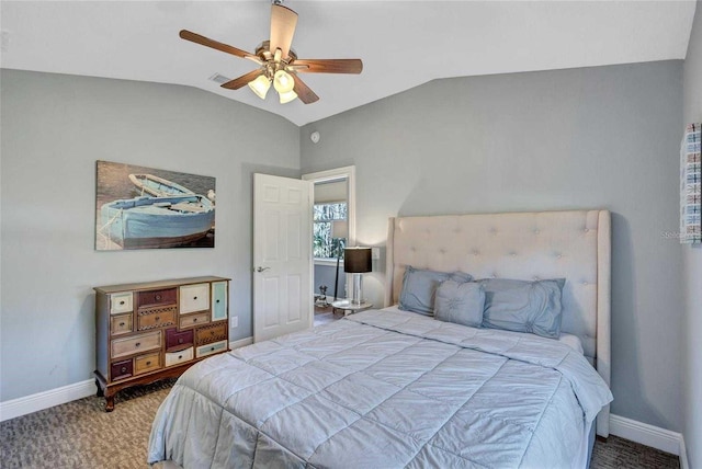
[[[680,146],[680,242],[702,242],[702,124],[688,124]]]

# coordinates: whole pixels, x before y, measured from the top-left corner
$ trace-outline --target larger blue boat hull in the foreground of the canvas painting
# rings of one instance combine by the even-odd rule
[[[205,196],[135,197],[100,208],[102,233],[122,249],[176,248],[207,236],[215,207]]]

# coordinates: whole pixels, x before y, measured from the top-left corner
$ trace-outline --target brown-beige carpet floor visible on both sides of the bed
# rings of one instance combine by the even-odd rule
[[[90,397],[0,423],[0,467],[146,469],[156,409],[173,380],[127,389],[114,412]],[[679,468],[678,457],[611,436],[595,445],[591,468]]]

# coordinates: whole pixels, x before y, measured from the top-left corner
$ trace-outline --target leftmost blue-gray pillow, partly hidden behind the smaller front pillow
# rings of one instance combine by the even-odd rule
[[[471,282],[473,277],[463,272],[435,272],[408,265],[403,278],[403,290],[399,294],[399,309],[433,316],[437,287],[449,279],[464,283]]]

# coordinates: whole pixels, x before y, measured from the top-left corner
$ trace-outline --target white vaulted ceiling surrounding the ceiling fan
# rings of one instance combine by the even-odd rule
[[[185,42],[191,30],[253,52],[270,1],[5,1],[2,68],[177,83],[279,114],[297,125],[438,78],[563,69],[686,56],[689,1],[295,1],[299,58],[361,58],[363,73],[301,73],[320,96],[279,104],[220,89],[256,65]]]

